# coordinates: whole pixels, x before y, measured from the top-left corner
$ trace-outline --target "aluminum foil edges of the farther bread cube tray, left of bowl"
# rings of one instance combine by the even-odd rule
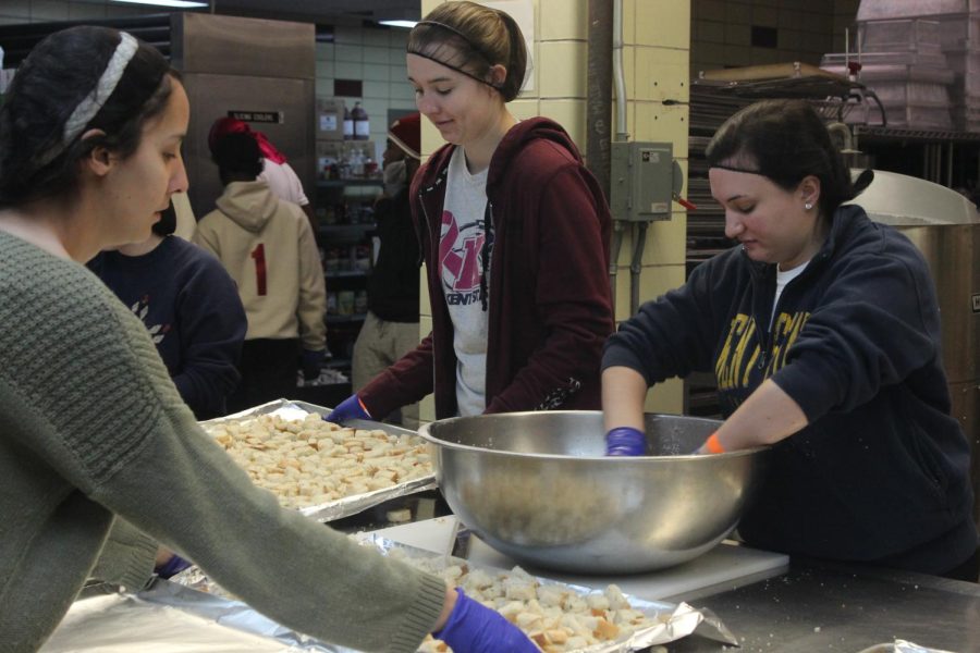
[[[242,421],[243,419],[258,417],[260,415],[278,415],[283,419],[303,419],[310,412],[323,416],[328,415],[330,410],[330,408],[317,406],[315,404],[308,404],[306,402],[277,399],[274,402],[269,402],[268,404],[256,406],[255,408],[249,408],[248,410],[235,412],[225,417],[209,419],[199,423],[205,428],[205,430],[207,430],[209,427],[220,426],[223,422]],[[352,420],[345,426],[355,429],[378,429],[396,436],[418,438],[418,433],[416,433],[415,431],[376,421]],[[414,494],[416,492],[422,492],[425,490],[431,490],[433,488],[436,488],[434,472],[424,477],[396,483],[395,485],[392,485],[390,488],[383,488],[381,490],[373,490],[362,494],[345,496],[343,498],[327,503],[303,506],[298,508],[298,512],[302,515],[310,517],[311,519],[316,519],[317,521],[332,521],[334,519],[341,519],[342,517],[356,515],[362,510],[384,503],[392,498],[405,496],[406,494]]]

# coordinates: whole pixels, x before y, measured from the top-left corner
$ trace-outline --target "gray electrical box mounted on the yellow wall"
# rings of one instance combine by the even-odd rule
[[[613,220],[670,220],[671,200],[679,190],[675,189],[674,168],[674,147],[670,143],[613,143],[610,183]]]

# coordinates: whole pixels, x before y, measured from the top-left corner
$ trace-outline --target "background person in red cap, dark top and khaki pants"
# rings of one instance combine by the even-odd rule
[[[418,171],[421,121],[400,118],[388,130],[382,156],[384,194],[375,204],[378,259],[367,281],[368,313],[354,343],[354,392],[418,346],[418,238],[408,184]],[[383,416],[380,416],[383,417]],[[387,421],[418,428],[418,405],[402,406]]]

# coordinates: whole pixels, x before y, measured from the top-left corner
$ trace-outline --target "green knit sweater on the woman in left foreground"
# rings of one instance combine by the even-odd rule
[[[0,232],[0,651],[34,651],[119,515],[290,628],[414,651],[444,586],[281,509],[200,430],[139,320]]]

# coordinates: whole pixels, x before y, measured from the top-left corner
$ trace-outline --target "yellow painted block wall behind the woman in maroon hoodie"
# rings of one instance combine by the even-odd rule
[[[441,2],[422,0],[422,15]],[[532,4],[534,89],[511,102],[511,110],[518,119],[547,115],[556,120],[585,151],[588,2],[532,0]],[[623,23],[626,132],[635,140],[672,143],[674,157],[686,171],[689,1],[624,0]],[[679,103],[665,106],[665,99]],[[610,124],[613,124],[614,118],[615,113],[610,116]],[[422,120],[422,153],[431,153],[442,143],[439,132]],[[639,280],[640,300],[652,299],[684,283],[686,224],[684,210],[675,204],[672,220],[657,223],[649,230]],[[629,316],[632,251],[633,241],[627,234],[617,264],[617,321]],[[426,335],[432,322],[425,282],[421,288],[419,331]],[[647,404],[648,410],[663,412],[681,412],[682,408],[683,385],[679,381],[657,386]],[[422,402],[420,418],[424,421],[434,419],[431,396]]]

